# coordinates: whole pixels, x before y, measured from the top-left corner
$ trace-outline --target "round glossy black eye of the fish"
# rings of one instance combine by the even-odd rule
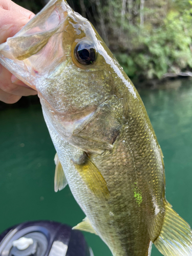
[[[75,58],[82,65],[91,65],[97,58],[96,50],[91,42],[79,42],[75,47]]]

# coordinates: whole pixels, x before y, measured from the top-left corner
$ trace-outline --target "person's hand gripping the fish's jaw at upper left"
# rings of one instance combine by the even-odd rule
[[[8,37],[14,36],[31,18],[35,16],[13,3],[11,0],[0,0],[0,44]],[[0,64],[0,100],[15,103],[22,96],[36,95],[37,92],[17,79]]]

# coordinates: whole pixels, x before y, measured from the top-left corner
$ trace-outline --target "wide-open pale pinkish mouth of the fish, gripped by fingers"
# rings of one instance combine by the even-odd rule
[[[18,33],[0,45],[0,63],[38,91],[37,80],[65,60],[62,32],[71,14],[74,12],[65,0],[51,0]]]

